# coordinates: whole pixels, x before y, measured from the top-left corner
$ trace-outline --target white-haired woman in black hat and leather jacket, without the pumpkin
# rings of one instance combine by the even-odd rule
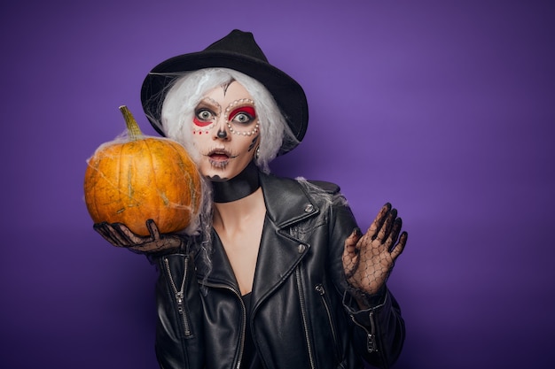
[[[161,368],[389,367],[404,325],[387,276],[407,241],[386,204],[366,234],[336,185],[278,178],[268,163],[301,142],[301,86],[234,30],[154,67],[141,93],[161,135],[207,180],[199,229],[140,237],[95,229],[158,265]]]

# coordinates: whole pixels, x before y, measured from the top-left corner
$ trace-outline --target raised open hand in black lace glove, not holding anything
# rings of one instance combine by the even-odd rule
[[[357,297],[379,292],[395,265],[395,259],[403,252],[408,234],[401,233],[402,225],[397,211],[387,203],[366,234],[362,235],[356,229],[345,241],[343,268],[350,290],[359,304],[361,299]]]

